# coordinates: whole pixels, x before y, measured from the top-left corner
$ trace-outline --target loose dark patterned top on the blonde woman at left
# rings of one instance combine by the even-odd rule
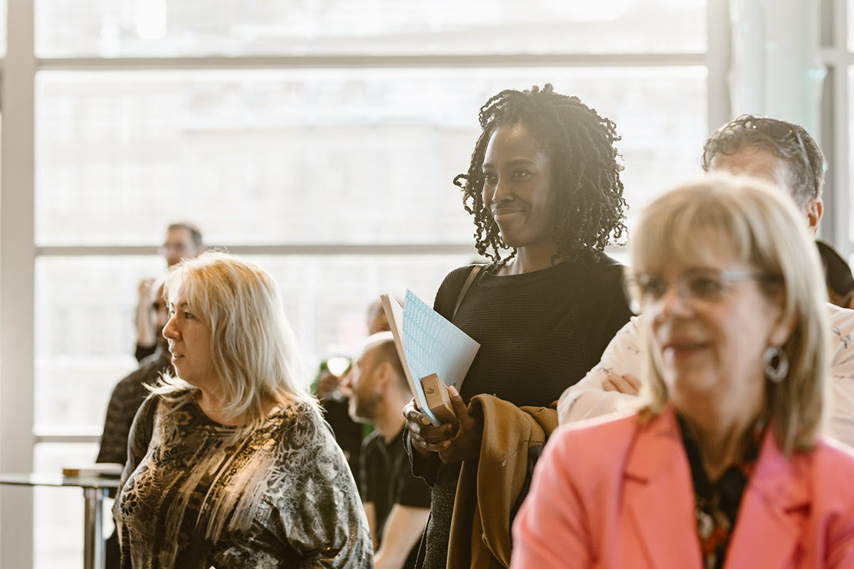
[[[353,476],[317,410],[292,404],[236,436],[193,395],[151,396],[134,420],[114,506],[122,566],[373,566]]]

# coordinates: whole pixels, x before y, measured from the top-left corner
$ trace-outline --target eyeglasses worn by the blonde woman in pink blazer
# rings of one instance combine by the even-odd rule
[[[630,298],[633,299],[633,310],[639,312],[636,309],[663,299],[670,286],[676,287],[676,292],[683,302],[713,304],[723,298],[723,294],[734,282],[779,280],[775,276],[763,275],[753,270],[691,269],[673,281],[655,273],[636,273],[626,276],[626,287]]]

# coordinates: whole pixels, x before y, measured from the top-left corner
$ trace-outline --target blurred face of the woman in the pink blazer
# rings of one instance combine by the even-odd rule
[[[654,299],[641,300],[651,327],[653,357],[670,399],[687,415],[714,404],[757,415],[765,403],[763,352],[782,345],[789,328],[781,305],[769,299],[755,278],[724,281],[719,294],[693,294],[685,283],[692,271],[755,272],[735,258],[728,239],[708,231],[709,252],[702,266],[671,258],[658,277],[670,283]],[[674,284],[682,279],[680,285]],[[680,288],[682,292],[680,292]]]

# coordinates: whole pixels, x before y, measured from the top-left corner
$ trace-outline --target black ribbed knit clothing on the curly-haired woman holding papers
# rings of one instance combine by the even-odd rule
[[[617,330],[629,321],[622,267],[601,255],[594,262],[564,262],[523,275],[483,270],[472,283],[453,323],[480,343],[460,394],[480,393],[518,406],[547,406],[599,362]],[[435,308],[451,319],[471,273],[460,267],[445,277]],[[446,566],[458,464],[424,460],[407,450],[412,471],[432,486],[427,538],[419,557],[426,569]],[[426,547],[425,547],[426,546]]]

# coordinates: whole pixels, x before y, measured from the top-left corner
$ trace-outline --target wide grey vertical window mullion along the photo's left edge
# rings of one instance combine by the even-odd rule
[[[35,73],[32,0],[8,0],[0,85],[0,471],[32,471]],[[0,565],[31,567],[32,491],[0,489]]]

